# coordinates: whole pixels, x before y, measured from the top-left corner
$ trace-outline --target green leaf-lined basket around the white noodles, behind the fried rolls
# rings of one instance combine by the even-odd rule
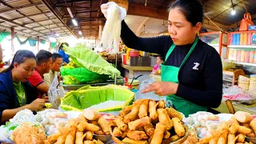
[[[90,106],[109,100],[124,101],[125,103],[122,106],[98,109],[98,111],[110,112],[122,110],[123,106],[129,106],[134,101],[134,93],[125,86],[84,86],[67,93],[61,100],[61,108],[66,111],[82,111]]]

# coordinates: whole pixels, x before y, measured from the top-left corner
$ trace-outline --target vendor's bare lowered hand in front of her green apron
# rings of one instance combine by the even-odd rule
[[[176,94],[178,90],[178,83],[174,82],[155,82],[150,86],[146,86],[142,93],[149,93],[154,91],[159,96],[166,96],[170,94]]]

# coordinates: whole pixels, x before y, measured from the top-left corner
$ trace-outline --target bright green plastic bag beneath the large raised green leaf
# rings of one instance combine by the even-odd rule
[[[78,85],[88,82],[93,83],[94,81],[104,81],[109,78],[108,75],[96,74],[84,67],[71,68],[63,66],[61,67],[61,74],[65,85]]]

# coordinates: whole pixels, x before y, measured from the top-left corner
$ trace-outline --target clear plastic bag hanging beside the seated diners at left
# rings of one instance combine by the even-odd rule
[[[50,85],[50,89],[48,90],[51,108],[58,109],[58,106],[61,104],[61,98],[64,97],[64,95],[64,90],[59,87],[58,76],[55,74],[54,80]]]

